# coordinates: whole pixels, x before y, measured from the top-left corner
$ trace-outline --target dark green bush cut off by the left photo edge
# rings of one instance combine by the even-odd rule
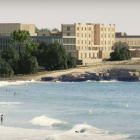
[[[0,74],[14,74],[10,65],[0,57]]]

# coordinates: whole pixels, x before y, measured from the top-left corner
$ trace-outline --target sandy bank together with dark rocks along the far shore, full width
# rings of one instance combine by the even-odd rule
[[[100,65],[78,67],[68,70],[48,72],[40,76],[0,78],[0,81],[48,81],[82,82],[87,80],[117,80],[140,82],[140,65]]]

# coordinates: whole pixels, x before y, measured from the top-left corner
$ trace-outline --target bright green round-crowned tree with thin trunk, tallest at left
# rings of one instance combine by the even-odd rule
[[[25,30],[15,30],[11,33],[11,38],[8,40],[11,45],[19,48],[19,54],[21,53],[21,47],[29,45],[31,42],[30,33]]]

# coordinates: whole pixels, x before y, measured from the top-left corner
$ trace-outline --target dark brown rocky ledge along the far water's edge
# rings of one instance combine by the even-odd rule
[[[106,72],[100,73],[70,73],[59,77],[44,77],[43,81],[62,81],[62,82],[82,82],[87,80],[118,80],[118,81],[130,81],[139,82],[140,72],[136,70],[129,69],[111,69]]]

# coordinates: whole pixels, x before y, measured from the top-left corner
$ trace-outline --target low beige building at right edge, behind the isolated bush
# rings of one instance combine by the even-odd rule
[[[116,47],[127,47],[131,57],[140,57],[140,36],[127,35],[126,33],[116,33],[116,40],[113,49]]]

